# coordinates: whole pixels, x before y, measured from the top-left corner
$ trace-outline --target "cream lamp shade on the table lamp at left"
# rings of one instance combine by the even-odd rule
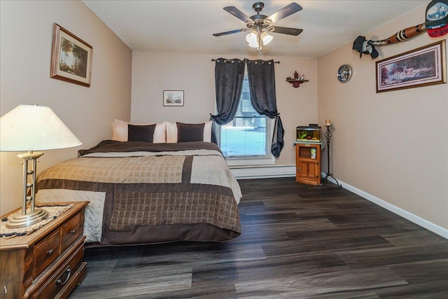
[[[0,118],[0,151],[43,151],[80,144],[46,106],[19,105]]]

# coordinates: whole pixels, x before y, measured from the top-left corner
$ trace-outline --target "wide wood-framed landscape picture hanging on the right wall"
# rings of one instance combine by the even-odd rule
[[[445,41],[376,62],[377,92],[447,83]]]

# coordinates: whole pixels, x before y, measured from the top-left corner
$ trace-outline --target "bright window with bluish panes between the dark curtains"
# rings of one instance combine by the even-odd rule
[[[253,109],[248,77],[245,74],[237,114],[230,123],[221,125],[218,132],[221,151],[228,160],[251,160],[251,164],[265,164],[253,160],[272,158],[270,123],[267,116],[262,116]]]

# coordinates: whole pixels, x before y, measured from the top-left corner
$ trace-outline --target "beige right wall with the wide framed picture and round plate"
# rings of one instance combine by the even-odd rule
[[[360,35],[386,39],[424,22],[425,9]],[[448,84],[375,90],[376,61],[441,40],[425,32],[402,43],[378,46],[375,60],[370,55],[359,58],[349,43],[319,58],[318,120],[329,118],[334,124],[330,166],[337,179],[416,216],[417,222],[428,221],[447,237]],[[354,73],[344,84],[336,78],[342,64],[350,64]]]

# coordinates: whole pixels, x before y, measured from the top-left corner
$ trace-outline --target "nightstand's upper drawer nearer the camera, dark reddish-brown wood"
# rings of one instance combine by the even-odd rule
[[[48,238],[43,239],[34,248],[34,260],[36,261],[36,277],[50,263],[59,256],[60,230],[55,230]]]

